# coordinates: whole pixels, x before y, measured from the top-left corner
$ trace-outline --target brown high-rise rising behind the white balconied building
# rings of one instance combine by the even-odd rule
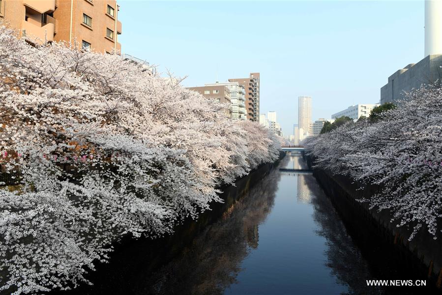
[[[260,73],[250,73],[248,78],[233,78],[229,82],[238,82],[245,89],[247,120],[259,121],[260,114]]]

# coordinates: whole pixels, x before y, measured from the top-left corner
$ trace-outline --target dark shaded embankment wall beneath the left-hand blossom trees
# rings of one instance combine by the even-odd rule
[[[109,262],[95,263],[95,270],[88,271],[89,273],[86,275],[93,286],[80,283],[80,286],[75,289],[54,290],[49,294],[138,294],[141,292],[140,290],[132,290],[132,293],[127,293],[124,284],[137,285],[136,282],[144,282],[144,278],[149,273],[180,255],[184,249],[194,243],[198,234],[227,214],[229,208],[232,208],[238,199],[275,170],[275,167],[285,156],[286,153],[281,152],[276,162],[260,165],[250,171],[248,175],[237,179],[234,185],[219,187],[218,189],[222,191],[220,198],[223,203],[212,202],[210,210],[199,214],[197,220],[187,218],[181,224],[177,224],[172,234],[159,238],[141,237],[138,239],[125,236],[119,242],[114,243],[114,251],[109,254]],[[111,282],[117,282],[117,285],[113,286]],[[122,287],[120,288],[120,286]],[[141,293],[144,294],[144,292]],[[150,290],[147,294],[155,293]]]

